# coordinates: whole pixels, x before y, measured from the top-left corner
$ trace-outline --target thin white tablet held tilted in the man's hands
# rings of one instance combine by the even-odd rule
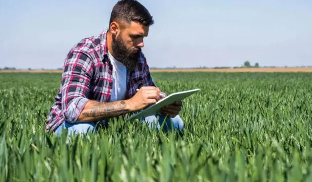
[[[169,104],[173,104],[176,101],[180,101],[185,99],[186,97],[192,95],[193,93],[199,91],[200,89],[194,89],[194,90],[189,90],[189,91],[180,91],[176,93],[172,93],[168,95],[166,98],[159,100],[155,104],[148,106],[147,108],[139,111],[137,114],[131,116],[127,120],[130,119],[139,119],[142,117],[147,117],[147,116],[152,116],[155,115],[159,112],[159,110]]]

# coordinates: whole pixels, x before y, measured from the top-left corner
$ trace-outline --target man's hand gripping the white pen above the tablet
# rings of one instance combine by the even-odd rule
[[[131,99],[126,100],[126,103],[130,106],[130,111],[144,109],[160,99],[160,92],[156,87],[141,87]]]

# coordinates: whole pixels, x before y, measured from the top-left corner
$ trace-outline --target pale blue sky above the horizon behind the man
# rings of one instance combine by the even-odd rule
[[[139,0],[150,67],[312,65],[311,0]],[[0,68],[55,69],[108,28],[116,0],[0,0]]]

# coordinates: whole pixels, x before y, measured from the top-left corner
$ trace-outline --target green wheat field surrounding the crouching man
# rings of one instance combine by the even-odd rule
[[[183,134],[112,120],[59,138],[60,73],[0,73],[0,181],[311,182],[312,73],[152,73],[183,101]]]

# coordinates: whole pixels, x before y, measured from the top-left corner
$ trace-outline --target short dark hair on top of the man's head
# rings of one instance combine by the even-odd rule
[[[138,21],[140,24],[150,26],[154,24],[149,11],[137,0],[119,0],[111,13],[109,24],[113,21],[124,20],[127,23]]]

